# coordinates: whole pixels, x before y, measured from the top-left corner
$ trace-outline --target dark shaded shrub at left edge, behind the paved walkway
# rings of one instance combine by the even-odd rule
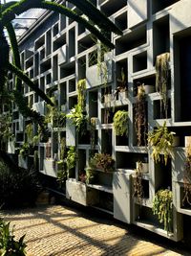
[[[34,204],[38,192],[38,178],[34,171],[11,170],[0,161],[0,205],[20,207]]]

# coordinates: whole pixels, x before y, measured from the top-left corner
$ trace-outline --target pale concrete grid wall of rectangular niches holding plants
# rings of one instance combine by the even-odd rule
[[[94,0],[123,31],[122,36],[111,35],[115,50],[104,55],[107,67],[106,82],[97,59],[99,50],[92,35],[70,18],[46,12],[19,41],[22,67],[45,93],[54,96],[59,109],[69,112],[77,103],[77,81],[87,83],[87,113],[96,117],[96,151],[110,153],[116,161],[116,172],[99,174],[98,184],[85,185],[79,181],[79,170],[88,166],[91,150],[90,136],[76,138],[75,128],[67,120],[65,128],[50,128],[49,145],[40,143],[39,172],[56,177],[55,157],[60,156],[60,139],[66,137],[67,147],[75,146],[77,163],[66,181],[66,197],[100,208],[119,221],[134,223],[174,241],[187,239],[191,207],[183,207],[183,170],[185,163],[184,137],[191,129],[191,1],[190,0]],[[74,8],[67,1],[63,4]],[[98,18],[98,17],[97,17]],[[94,54],[92,54],[94,53]],[[171,78],[168,88],[167,127],[180,136],[167,166],[156,164],[151,151],[138,147],[135,131],[135,103],[138,82],[155,85],[157,56],[170,53]],[[128,93],[115,97],[121,70],[126,77]],[[104,84],[106,83],[106,84]],[[41,114],[46,104],[24,85],[29,105]],[[106,97],[108,95],[107,102]],[[108,100],[109,99],[109,100]],[[162,126],[161,96],[153,91],[146,95],[148,130]],[[104,102],[105,101],[105,102]],[[113,128],[113,116],[118,109],[128,110],[129,135],[119,138]],[[105,112],[109,119],[105,123]],[[25,137],[24,120],[16,106],[13,108],[13,131],[17,146]],[[34,129],[36,129],[34,127]],[[50,147],[50,155],[47,148]],[[10,149],[11,150],[11,149]],[[133,177],[136,163],[148,159],[148,172],[143,175],[144,198],[133,197]],[[20,165],[30,166],[32,156],[20,159]],[[160,188],[173,191],[173,232],[163,230],[152,213],[152,204]],[[140,205],[141,204],[141,205]]]

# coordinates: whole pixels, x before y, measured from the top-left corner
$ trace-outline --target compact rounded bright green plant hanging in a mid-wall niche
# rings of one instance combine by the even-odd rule
[[[129,115],[126,110],[118,110],[114,115],[114,128],[117,136],[128,135]]]

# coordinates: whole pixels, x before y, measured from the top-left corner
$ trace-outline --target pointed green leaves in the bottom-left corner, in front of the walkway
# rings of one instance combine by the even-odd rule
[[[11,222],[0,219],[0,254],[1,256],[25,256],[26,244],[24,243],[25,235],[18,241],[13,235],[13,228],[10,230]]]

